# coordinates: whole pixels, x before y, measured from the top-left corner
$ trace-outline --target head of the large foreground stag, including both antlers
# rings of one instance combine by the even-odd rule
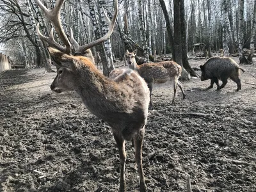
[[[51,54],[51,57],[57,63],[57,65],[60,66],[60,68],[58,68],[58,74],[51,85],[51,89],[54,92],[58,92],[58,93],[74,90],[74,84],[72,84],[72,82],[75,82],[75,81],[70,81],[70,80],[76,79],[76,75],[79,72],[79,69],[81,67],[88,67],[88,68],[91,68],[92,70],[97,70],[93,65],[94,58],[92,56],[92,52],[90,51],[90,48],[104,42],[113,33],[113,29],[115,27],[115,20],[118,14],[118,2],[117,0],[115,0],[115,13],[113,15],[112,20],[109,20],[108,16],[106,15],[106,12],[104,11],[104,15],[109,23],[108,33],[102,36],[102,38],[99,38],[93,42],[90,42],[89,44],[80,46],[74,39],[72,29],[70,29],[70,40],[68,40],[67,35],[65,34],[65,31],[63,29],[63,26],[61,25],[60,10],[65,0],[57,0],[56,5],[52,10],[47,9],[40,0],[35,0],[35,1],[38,4],[38,6],[42,9],[42,11],[45,13],[45,17],[47,17],[47,19],[51,21],[55,31],[58,33],[58,35],[60,36],[60,39],[65,45],[65,46],[60,45],[54,40],[53,28],[51,29],[51,33],[49,37],[42,35],[42,33],[39,30],[39,23],[38,23],[36,27],[36,31],[39,37],[41,38],[41,40],[44,40],[49,44],[50,46],[49,52]],[[75,52],[74,56],[71,55],[72,48],[74,49],[74,52]],[[88,56],[88,58],[83,57],[83,55]]]

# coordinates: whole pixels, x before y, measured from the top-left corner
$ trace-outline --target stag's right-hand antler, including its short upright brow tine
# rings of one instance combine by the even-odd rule
[[[102,36],[102,38],[99,38],[97,40],[95,40],[94,42],[90,42],[89,44],[85,44],[80,46],[77,41],[74,39],[73,36],[73,31],[70,28],[70,42],[74,45],[74,48],[76,50],[76,52],[81,52],[83,54],[84,51],[86,51],[86,49],[90,49],[91,47],[94,47],[95,45],[99,45],[100,43],[104,42],[105,40],[107,40],[109,38],[109,36],[111,36],[111,34],[113,33],[114,27],[115,27],[115,21],[116,21],[116,17],[118,15],[118,1],[115,0],[115,13],[113,15],[113,19],[109,20],[108,15],[106,14],[104,8],[102,8],[103,13],[106,17],[106,20],[109,24],[109,31],[108,33],[106,33],[106,35]]]

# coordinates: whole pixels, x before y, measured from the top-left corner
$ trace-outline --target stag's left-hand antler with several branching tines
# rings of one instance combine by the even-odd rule
[[[60,10],[61,10],[61,7],[65,0],[57,0],[56,5],[54,6],[54,8],[52,10],[47,9],[40,0],[35,0],[35,1],[36,1],[36,4],[38,4],[38,6],[45,13],[45,16],[47,17],[47,19],[49,19],[51,21],[52,25],[54,26],[54,29],[56,30],[56,32],[60,36],[60,39],[62,40],[63,44],[66,45],[66,47],[63,47],[62,45],[60,45],[54,41],[52,31],[51,31],[50,37],[46,37],[46,36],[42,35],[42,33],[40,33],[40,31],[39,31],[39,25],[37,25],[37,28],[36,28],[38,35],[40,36],[40,38],[42,40],[47,42],[52,47],[55,47],[56,49],[60,50],[61,52],[70,54],[71,44],[68,40],[67,35],[65,34],[65,31],[64,31],[63,26],[61,25],[61,21],[60,21]]]

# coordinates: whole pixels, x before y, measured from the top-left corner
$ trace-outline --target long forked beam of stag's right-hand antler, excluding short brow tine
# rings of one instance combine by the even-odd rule
[[[113,30],[114,30],[114,27],[115,27],[116,17],[118,14],[118,1],[115,0],[115,13],[113,15],[113,19],[111,22],[110,22],[108,16],[106,15],[106,13],[104,13],[104,14],[109,22],[108,33],[106,33],[106,35],[102,36],[102,38],[95,40],[94,42],[90,42],[89,44],[79,47],[79,52],[83,53],[84,51],[86,51],[86,49],[90,49],[91,47],[94,47],[95,45],[98,45],[98,44],[104,42],[105,40],[107,40],[109,38],[109,36],[111,36],[111,34],[113,33]]]

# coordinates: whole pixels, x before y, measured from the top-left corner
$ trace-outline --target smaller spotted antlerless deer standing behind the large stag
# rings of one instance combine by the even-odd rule
[[[126,50],[125,60],[126,63],[128,63],[128,67],[132,70],[136,70],[136,72],[138,72],[138,74],[140,74],[140,76],[143,77],[143,79],[145,79],[145,81],[147,82],[148,88],[150,90],[150,109],[152,109],[153,107],[151,95],[154,82],[165,83],[168,79],[170,79],[170,81],[173,84],[174,92],[172,104],[174,103],[175,100],[177,86],[179,86],[182,92],[183,99],[186,98],[186,95],[182,88],[182,84],[178,80],[182,70],[178,63],[176,63],[175,61],[161,61],[158,63],[143,63],[142,65],[138,65],[135,60],[136,53],[137,49],[135,49],[132,52]]]

